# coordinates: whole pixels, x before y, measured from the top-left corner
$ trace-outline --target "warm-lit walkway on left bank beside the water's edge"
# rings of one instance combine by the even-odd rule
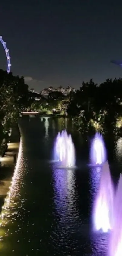
[[[0,212],[7,197],[9,186],[11,185],[12,176],[15,170],[15,164],[18,158],[20,145],[20,130],[18,124],[12,126],[10,142],[8,143],[4,157],[0,163]]]

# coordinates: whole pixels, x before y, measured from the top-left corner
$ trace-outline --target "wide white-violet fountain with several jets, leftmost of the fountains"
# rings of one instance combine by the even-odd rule
[[[75,167],[75,150],[71,138],[66,130],[59,132],[54,146],[54,160],[62,163],[63,168]],[[62,168],[61,167],[61,168]]]

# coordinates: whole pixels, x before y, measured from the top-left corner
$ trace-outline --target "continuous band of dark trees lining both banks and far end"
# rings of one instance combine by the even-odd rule
[[[122,78],[107,79],[99,86],[91,79],[80,89],[65,96],[51,92],[48,98],[35,100],[24,78],[0,70],[0,154],[9,139],[12,124],[22,110],[41,114],[68,115],[82,133],[122,134]]]

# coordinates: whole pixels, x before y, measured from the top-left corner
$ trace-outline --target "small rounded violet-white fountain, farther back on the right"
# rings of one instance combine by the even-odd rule
[[[102,135],[96,133],[91,141],[90,160],[93,165],[100,165],[106,161],[106,148]]]

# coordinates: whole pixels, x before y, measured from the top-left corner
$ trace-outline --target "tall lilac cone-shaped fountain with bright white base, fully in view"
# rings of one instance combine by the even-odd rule
[[[113,228],[114,188],[108,161],[102,167],[100,186],[94,202],[94,229],[107,232]],[[114,255],[115,256],[115,255]]]

